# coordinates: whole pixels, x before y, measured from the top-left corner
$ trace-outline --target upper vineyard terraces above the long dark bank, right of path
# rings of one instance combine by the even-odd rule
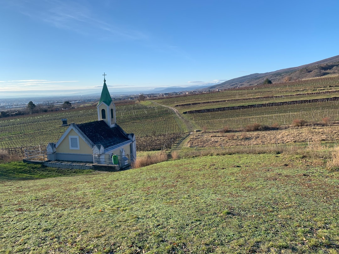
[[[187,94],[157,100],[160,104],[176,107],[180,112],[201,108],[211,108],[214,101],[220,105],[237,106],[254,103],[294,101],[316,98],[334,97],[339,90],[339,76],[299,80],[271,85],[257,85],[244,88],[233,88],[218,92],[206,92],[200,94]],[[330,95],[331,94],[331,95]],[[333,94],[333,95],[332,95]],[[290,98],[285,98],[290,97]],[[152,99],[153,100],[153,99]],[[218,102],[225,100],[226,102]],[[234,101],[235,100],[235,101]],[[241,101],[243,100],[243,101]],[[248,101],[250,100],[250,101]],[[194,105],[199,102],[211,102],[211,104]],[[190,104],[193,105],[184,105]],[[206,106],[208,105],[208,106]]]

